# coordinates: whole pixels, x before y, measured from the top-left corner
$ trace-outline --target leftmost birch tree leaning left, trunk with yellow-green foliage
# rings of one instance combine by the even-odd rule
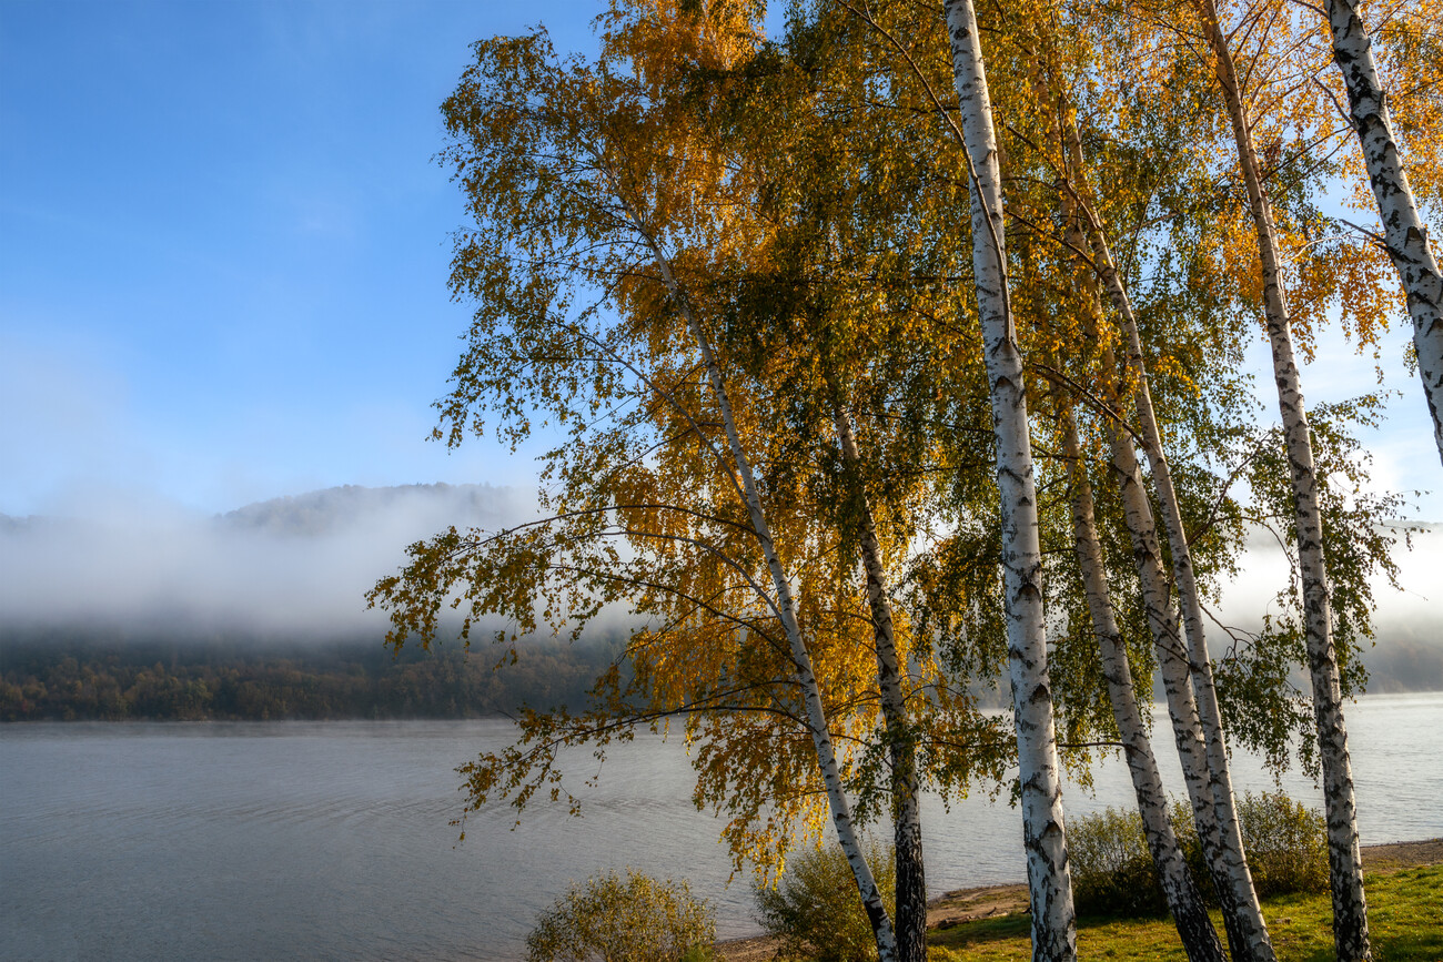
[[[745,43],[746,36],[723,39]],[[710,53],[724,56],[724,46],[717,48]],[[410,632],[433,633],[436,609],[456,586],[469,601],[468,627],[489,612],[534,626],[532,591],[551,599],[553,617],[557,607],[569,604],[567,616],[574,619],[579,612],[597,610],[599,601],[589,593],[618,597],[616,588],[606,586],[620,581],[644,588],[641,610],[667,619],[664,630],[638,639],[638,645],[655,649],[644,675],[649,672],[655,684],[661,679],[655,672],[678,671],[678,659],[706,668],[720,655],[711,671],[722,668],[723,674],[703,681],[713,691],[726,691],[729,674],[734,672],[737,684],[746,679],[745,665],[726,669],[726,650],[711,652],[711,658],[696,650],[698,642],[720,640],[714,627],[700,636],[681,629],[709,613],[729,630],[762,627],[758,635],[763,643],[784,643],[791,671],[786,684],[801,702],[797,712],[773,711],[799,720],[812,743],[833,828],[877,933],[879,953],[892,959],[892,923],[857,844],[824,682],[814,666],[815,635],[810,640],[802,627],[805,601],[792,586],[797,573],[784,560],[763,480],[753,467],[747,437],[755,437],[755,414],[736,405],[739,385],[729,382],[709,332],[706,301],[687,280],[700,267],[703,250],[716,255],[737,242],[719,213],[726,198],[717,154],[707,151],[704,140],[678,143],[687,133],[677,125],[683,121],[664,111],[648,112],[646,78],[612,75],[605,63],[600,69],[558,65],[540,35],[482,42],[476,50],[478,62],[446,111],[456,137],[447,160],[456,163],[478,224],[457,242],[453,283],[479,306],[472,349],[457,368],[443,417],[452,421],[456,440],[481,412],[499,410],[505,431],[518,438],[530,431],[528,407],[550,408],[561,424],[573,425],[571,444],[553,451],[561,464],[553,472],[574,495],[557,502],[561,537],[556,539],[541,528],[491,538],[449,532],[413,548],[407,571],[384,580],[375,593],[375,600],[394,609],[392,639],[400,643]],[[670,248],[671,238],[688,238],[696,247],[677,252]],[[577,313],[573,299],[587,290],[602,291],[602,299]],[[622,323],[597,326],[603,304],[619,307]],[[590,397],[589,414],[577,410],[577,395]],[[703,395],[710,400],[697,407]],[[616,428],[590,446],[577,444],[589,418],[605,420],[615,404],[641,404],[641,412],[620,417]],[[638,428],[655,418],[665,428],[659,437],[651,430],[638,438]],[[667,483],[668,472],[680,467],[675,457],[684,451],[672,454],[672,467],[664,462],[659,476],[645,464],[646,451],[675,449],[678,440],[713,462],[711,470],[694,477],[709,479],[713,498],[724,493],[722,503],[703,499],[707,506],[698,509],[675,496],[654,496],[655,485]],[[620,462],[613,462],[618,457]],[[628,544],[632,562],[612,547],[589,554],[580,547],[608,539]],[[690,551],[683,551],[687,547]],[[730,575],[698,583],[667,564],[678,551],[710,557],[720,562],[713,568]],[[543,573],[543,578],[561,575],[560,596],[528,570]],[[758,614],[737,616],[733,599],[739,590],[752,596],[740,610],[760,609]],[[823,614],[814,613],[812,622],[820,625]],[[670,681],[681,689],[696,684]],[[729,705],[733,715],[765,710],[765,701],[739,694],[675,708],[710,712],[711,718]],[[606,724],[600,712],[571,727],[570,734],[584,737],[608,730]],[[550,747],[557,724],[538,723],[532,734]],[[561,736],[564,740],[567,733]],[[514,751],[483,759],[469,770],[473,802],[483,803],[494,792],[517,792],[524,803],[538,787],[538,769],[543,779],[551,776],[548,757],[545,751]],[[703,753],[700,762],[716,763],[717,757]],[[703,782],[706,777],[704,772]]]

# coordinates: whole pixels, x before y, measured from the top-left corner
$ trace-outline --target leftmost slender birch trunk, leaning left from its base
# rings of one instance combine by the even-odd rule
[[[641,229],[639,224],[638,229]],[[711,352],[711,340],[707,337],[706,330],[703,330],[691,300],[671,273],[671,264],[657,248],[655,242],[651,241],[651,237],[645,232],[644,237],[646,237],[646,242],[651,247],[662,281],[672,297],[675,297],[681,314],[687,322],[687,329],[697,342],[697,348],[701,352],[701,362],[707,371],[707,379],[711,382],[711,391],[717,398],[722,423],[726,428],[727,447],[732,451],[733,462],[736,462],[737,475],[742,479],[742,490],[746,498],[752,529],[756,534],[758,547],[772,577],[772,590],[776,593],[776,613],[791,646],[792,663],[797,669],[795,679],[802,689],[802,698],[807,704],[807,727],[811,731],[812,746],[817,750],[817,766],[821,770],[823,785],[827,789],[827,803],[831,808],[833,826],[837,831],[837,841],[841,842],[841,851],[847,857],[847,864],[851,865],[851,874],[861,896],[861,906],[872,922],[872,930],[877,940],[879,962],[898,962],[896,935],[892,927],[892,919],[887,914],[886,904],[882,901],[882,891],[877,888],[876,877],[872,874],[872,867],[867,864],[866,854],[857,837],[851,803],[847,800],[847,793],[841,783],[841,767],[837,764],[837,751],[831,740],[831,731],[827,728],[827,712],[821,702],[821,685],[812,669],[807,639],[797,620],[797,604],[792,600],[791,581],[786,578],[781,557],[776,554],[776,545],[772,542],[772,529],[766,522],[766,512],[762,508],[762,496],[756,487],[756,477],[752,473],[752,462],[742,446],[736,417],[732,414],[732,400],[726,389],[726,378],[716,361],[716,355]]]

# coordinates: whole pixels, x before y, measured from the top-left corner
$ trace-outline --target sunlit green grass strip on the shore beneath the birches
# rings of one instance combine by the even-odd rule
[[[1332,906],[1328,896],[1283,896],[1263,903],[1281,962],[1332,961]],[[1214,922],[1216,913],[1214,913]],[[968,922],[934,933],[931,945],[983,962],[1032,958],[1030,920],[1016,914]],[[1221,923],[1218,923],[1221,933]],[[1443,865],[1408,868],[1368,878],[1368,926],[1375,962],[1443,959]],[[948,953],[938,952],[938,958]],[[1166,919],[1079,919],[1078,956],[1087,959],[1176,959],[1186,962],[1177,932]]]

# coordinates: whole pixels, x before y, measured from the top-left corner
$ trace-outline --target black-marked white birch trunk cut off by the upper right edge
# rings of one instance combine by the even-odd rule
[[[1443,459],[1443,273],[1429,247],[1429,231],[1408,186],[1408,175],[1392,140],[1388,102],[1372,61],[1372,42],[1354,0],[1326,0],[1333,32],[1333,62],[1348,87],[1348,111],[1362,146],[1368,183],[1378,199],[1382,237],[1413,317],[1418,378],[1433,415],[1433,440]],[[1341,949],[1339,949],[1341,952]]]

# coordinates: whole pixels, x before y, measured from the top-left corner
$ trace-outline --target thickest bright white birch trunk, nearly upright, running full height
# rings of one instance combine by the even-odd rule
[[[1048,681],[1042,548],[1027,397],[1007,301],[1001,172],[973,1],[947,0],[944,6],[970,167],[973,273],[997,440],[1007,663],[1017,728],[1027,888],[1032,896],[1032,955],[1039,961],[1071,961],[1076,958],[1076,917]]]

